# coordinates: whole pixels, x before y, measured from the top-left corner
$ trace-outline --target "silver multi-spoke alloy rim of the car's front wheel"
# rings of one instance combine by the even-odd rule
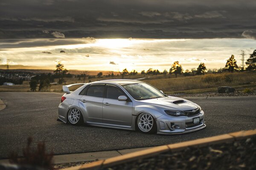
[[[149,113],[141,113],[138,117],[138,127],[143,132],[148,132],[153,127],[153,118]]]

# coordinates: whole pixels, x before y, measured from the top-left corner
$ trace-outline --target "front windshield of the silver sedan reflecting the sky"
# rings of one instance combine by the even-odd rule
[[[165,97],[160,91],[147,83],[123,85],[126,91],[136,100],[155,99]]]

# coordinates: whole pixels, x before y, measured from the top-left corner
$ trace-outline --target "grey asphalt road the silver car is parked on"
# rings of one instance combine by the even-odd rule
[[[87,125],[57,122],[61,94],[1,92],[6,108],[0,111],[0,159],[21,153],[28,136],[44,141],[54,154],[150,147],[256,129],[256,96],[187,98],[205,112],[207,127],[182,135],[147,135]]]

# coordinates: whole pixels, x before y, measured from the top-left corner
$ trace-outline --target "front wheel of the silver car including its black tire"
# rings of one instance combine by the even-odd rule
[[[142,133],[157,133],[157,123],[149,113],[140,113],[137,116],[136,125]]]

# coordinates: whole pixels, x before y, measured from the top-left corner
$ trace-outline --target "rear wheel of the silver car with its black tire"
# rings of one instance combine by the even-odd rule
[[[67,118],[72,125],[81,125],[84,123],[83,115],[78,108],[71,108],[67,113]]]

